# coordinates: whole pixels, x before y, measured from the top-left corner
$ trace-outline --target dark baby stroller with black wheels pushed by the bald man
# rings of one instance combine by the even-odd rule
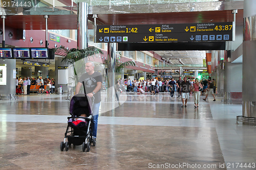
[[[94,102],[94,97],[93,97]],[[81,145],[82,151],[85,150],[87,152],[91,149],[91,141],[92,141],[92,127],[91,127],[91,119],[92,119],[92,110],[91,107],[91,99],[85,94],[76,94],[70,101],[70,114],[68,117],[68,127],[65,133],[64,141],[60,143],[60,150],[63,151],[65,148],[66,151],[69,150],[71,144],[73,145]],[[90,107],[91,106],[91,107]],[[86,114],[87,117],[81,117],[81,114]],[[85,119],[85,121],[77,122],[77,118]],[[68,142],[66,142],[66,138],[68,138]],[[96,145],[96,140],[93,140],[93,145]]]

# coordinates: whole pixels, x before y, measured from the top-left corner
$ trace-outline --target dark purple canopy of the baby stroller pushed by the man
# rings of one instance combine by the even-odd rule
[[[85,94],[76,94],[70,101],[70,114],[74,116],[86,114],[86,116],[88,117],[92,114],[90,104],[91,99],[88,96],[86,96]]]

